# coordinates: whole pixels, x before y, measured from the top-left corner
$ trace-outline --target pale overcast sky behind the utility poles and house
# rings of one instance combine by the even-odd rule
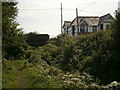
[[[114,12],[120,0],[18,0],[17,21],[25,33],[49,34],[50,38],[61,33],[61,10],[63,22],[79,16],[103,16]]]

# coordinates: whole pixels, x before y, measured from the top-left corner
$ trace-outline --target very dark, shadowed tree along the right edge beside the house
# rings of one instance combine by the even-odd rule
[[[113,28],[113,73],[117,81],[120,81],[120,13],[116,12],[116,19]]]

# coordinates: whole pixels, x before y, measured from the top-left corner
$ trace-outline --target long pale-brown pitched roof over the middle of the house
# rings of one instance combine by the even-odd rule
[[[79,16],[78,23],[80,24],[82,21],[85,21],[90,26],[96,26],[99,22],[99,17],[97,16]],[[70,25],[77,25],[77,18],[75,18]]]

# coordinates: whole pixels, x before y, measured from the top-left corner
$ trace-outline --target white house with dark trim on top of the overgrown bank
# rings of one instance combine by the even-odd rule
[[[112,19],[113,17],[110,14],[106,14],[101,17],[79,16],[78,18],[75,18],[72,22],[65,21],[63,25],[63,32],[72,36],[96,32],[98,30],[106,30]]]

